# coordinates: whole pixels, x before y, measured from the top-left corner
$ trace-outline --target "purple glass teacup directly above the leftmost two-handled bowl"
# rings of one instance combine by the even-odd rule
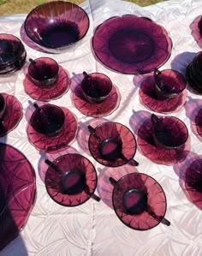
[[[38,106],[34,104],[36,110],[30,119],[33,129],[46,136],[55,136],[63,127],[65,115],[63,110],[54,104],[45,104]]]

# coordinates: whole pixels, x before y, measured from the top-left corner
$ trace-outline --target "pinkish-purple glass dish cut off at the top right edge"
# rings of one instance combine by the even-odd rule
[[[193,39],[197,42],[199,47],[202,48],[202,15],[196,17],[190,24],[192,30]]]

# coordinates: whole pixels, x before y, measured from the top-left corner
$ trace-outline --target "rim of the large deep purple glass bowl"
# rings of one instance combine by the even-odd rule
[[[86,18],[88,20],[88,26],[86,27],[86,32],[83,34],[82,37],[80,37],[80,39],[78,39],[78,40],[76,40],[76,41],[74,41],[74,42],[72,42],[72,43],[70,43],[68,45],[61,45],[59,47],[51,47],[50,45],[46,46],[46,45],[41,44],[41,41],[37,41],[37,40],[33,39],[33,37],[31,35],[29,35],[29,33],[27,32],[27,26],[26,26],[28,19],[30,18],[31,15],[33,15],[34,12],[37,12],[38,9],[43,8],[45,5],[52,5],[52,4],[55,4],[55,3],[59,3],[59,4],[60,3],[64,3],[65,5],[66,4],[67,5],[72,5],[72,6],[76,7],[76,8],[78,8],[78,9],[82,10],[83,13],[86,15]],[[67,46],[70,46],[70,45],[74,45],[76,42],[79,42],[81,39],[83,39],[86,36],[86,33],[88,32],[89,27],[90,27],[90,19],[89,19],[89,16],[87,15],[86,11],[84,9],[82,9],[79,5],[75,4],[75,3],[64,2],[64,1],[52,1],[52,2],[48,2],[48,3],[42,3],[39,6],[35,7],[34,9],[32,9],[29,12],[29,14],[27,15],[26,20],[24,21],[24,28],[25,28],[25,32],[27,33],[28,38],[31,39],[35,44],[40,45],[41,47],[44,47],[45,49],[50,49],[50,50],[56,50],[56,49],[60,50],[60,49],[62,49],[64,47],[67,47]]]

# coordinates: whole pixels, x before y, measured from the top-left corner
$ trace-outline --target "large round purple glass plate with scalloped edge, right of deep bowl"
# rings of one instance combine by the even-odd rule
[[[151,72],[166,63],[172,41],[166,30],[146,17],[123,15],[99,25],[92,38],[98,60],[123,74]]]

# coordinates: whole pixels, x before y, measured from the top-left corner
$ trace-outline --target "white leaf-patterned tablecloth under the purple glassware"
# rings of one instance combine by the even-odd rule
[[[98,118],[97,123],[104,120],[122,122],[134,131],[135,118],[144,116],[151,111],[140,103],[140,81],[146,75],[119,74],[104,68],[92,55],[90,40],[93,30],[98,24],[114,15],[134,14],[146,16],[165,27],[173,41],[172,54],[164,68],[175,68],[185,73],[187,63],[190,63],[196,52],[200,51],[199,45],[193,39],[189,28],[193,19],[202,14],[202,2],[200,0],[170,0],[163,3],[141,8],[134,3],[118,0],[96,1],[89,0],[81,5],[86,9],[90,17],[91,26],[85,39],[79,45],[74,46],[65,54],[52,55],[37,51],[31,45],[24,44],[27,49],[27,60],[36,57],[54,57],[56,61],[68,70],[73,87],[80,82],[81,74],[86,72],[101,72],[108,74],[122,95],[120,105],[110,116]],[[1,33],[12,33],[18,37],[23,36],[22,24],[26,15],[11,15],[0,17]],[[25,65],[27,67],[28,61]],[[106,168],[98,164],[87,150],[86,125],[95,122],[91,116],[84,116],[74,107],[71,99],[71,88],[62,98],[51,100],[51,104],[65,106],[77,116],[79,131],[77,138],[66,151],[49,155],[55,159],[59,155],[68,152],[79,152],[89,158],[98,172],[97,192],[101,201],[89,199],[84,205],[74,208],[62,207],[50,199],[45,190],[45,168],[39,169],[39,162],[43,154],[38,152],[27,140],[25,117],[30,102],[34,102],[24,92],[24,70],[9,76],[0,78],[1,92],[15,95],[23,105],[23,118],[18,127],[10,132],[0,142],[15,146],[33,164],[37,176],[37,200],[27,225],[21,230],[20,235],[9,243],[0,256],[24,256],[24,255],[135,255],[135,256],[199,256],[202,255],[202,211],[191,202],[180,185],[178,170],[183,164],[174,165],[155,164],[149,158],[136,152],[135,159],[140,163],[136,169],[130,165],[120,168]],[[190,122],[190,110],[194,104],[201,104],[201,96],[194,94],[187,88],[187,103],[181,110],[172,113],[186,123],[190,138],[191,150],[188,157],[194,154],[202,154],[199,138],[193,134]],[[141,121],[141,119],[139,119]],[[137,123],[139,125],[139,123]],[[135,134],[136,135],[136,134]],[[161,184],[167,198],[167,211],[165,217],[169,219],[169,227],[159,224],[156,228],[147,231],[129,229],[117,217],[111,206],[112,188],[107,181],[109,176],[116,179],[129,173],[139,171],[155,178]]]

